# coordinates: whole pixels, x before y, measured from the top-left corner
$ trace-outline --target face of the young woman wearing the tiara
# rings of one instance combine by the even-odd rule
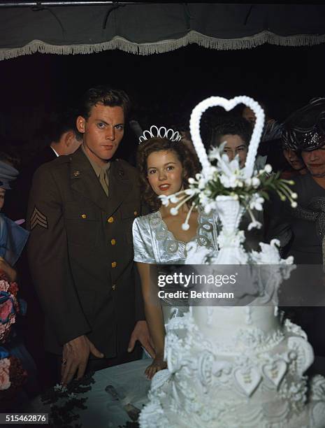
[[[171,150],[152,152],[147,157],[147,179],[155,194],[173,194],[182,189],[182,164]]]

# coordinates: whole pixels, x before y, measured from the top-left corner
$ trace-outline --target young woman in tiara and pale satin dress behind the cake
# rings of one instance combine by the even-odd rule
[[[190,242],[196,241],[198,245],[215,249],[217,232],[212,214],[190,211],[189,206],[184,204],[177,215],[171,215],[171,208],[177,204],[161,205],[160,195],[186,189],[188,179],[199,170],[195,155],[182,143],[178,132],[151,127],[143,135],[140,137],[137,164],[143,202],[152,212],[133,222],[133,246],[143,290],[145,316],[156,353],[154,361],[145,371],[147,377],[152,378],[154,373],[166,368],[164,315],[166,319],[167,311],[164,306],[163,315],[161,304],[157,303],[157,299],[154,301],[150,293],[150,264],[184,264]],[[182,228],[186,220],[189,226]]]

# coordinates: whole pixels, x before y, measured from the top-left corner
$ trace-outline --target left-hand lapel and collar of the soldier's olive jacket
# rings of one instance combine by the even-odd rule
[[[108,197],[81,148],[71,156],[70,178],[71,187],[75,192],[93,201],[103,211],[108,211]]]

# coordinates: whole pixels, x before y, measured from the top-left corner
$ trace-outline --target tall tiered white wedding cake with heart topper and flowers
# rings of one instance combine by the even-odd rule
[[[216,149],[210,160],[218,164],[211,166],[199,134],[201,115],[211,106],[231,110],[239,103],[257,116],[245,168],[240,170],[237,159],[229,162]],[[269,183],[295,204],[287,183],[275,183],[268,166],[253,171],[263,110],[248,97],[211,97],[194,108],[190,126],[203,172],[185,194],[192,194],[205,211],[215,210],[222,231],[219,252],[192,244],[187,263],[263,265],[262,274],[258,294],[245,306],[191,306],[182,317],[171,318],[165,341],[168,369],[152,379],[140,427],[324,428],[325,379],[305,376],[314,360],[312,347],[301,327],[277,308],[277,291],[292,260],[280,258],[276,241],[260,243],[260,252],[246,252],[245,233],[238,230],[243,207],[250,213],[259,208]],[[168,204],[168,197],[163,203]],[[252,217],[250,226],[257,225]]]

